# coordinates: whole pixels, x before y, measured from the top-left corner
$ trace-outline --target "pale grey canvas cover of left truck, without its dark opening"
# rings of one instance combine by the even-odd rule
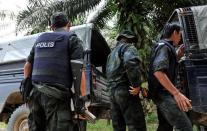
[[[73,26],[70,29],[83,41],[84,50],[91,48],[89,43],[91,42],[92,28],[92,24],[84,24]],[[42,33],[0,41],[0,64],[26,59],[40,34]]]

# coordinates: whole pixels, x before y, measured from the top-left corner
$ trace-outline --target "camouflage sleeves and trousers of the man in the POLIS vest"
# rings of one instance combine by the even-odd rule
[[[59,20],[62,20],[62,16]],[[64,31],[58,28],[55,32]],[[83,58],[82,41],[73,35],[69,38],[69,50],[71,59]],[[35,50],[32,48],[27,61],[34,63]],[[67,55],[67,54],[66,54]],[[70,60],[68,60],[70,61]],[[72,121],[70,99],[56,97],[58,92],[67,92],[65,88],[54,83],[33,83],[31,99],[29,101],[30,114],[28,124],[30,131],[74,131],[75,124]],[[54,90],[51,90],[51,89]],[[49,92],[48,92],[49,91]]]

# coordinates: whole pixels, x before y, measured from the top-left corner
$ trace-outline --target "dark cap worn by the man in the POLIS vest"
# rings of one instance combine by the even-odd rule
[[[50,17],[51,26],[60,28],[65,26],[69,20],[65,13],[63,12],[56,12]]]

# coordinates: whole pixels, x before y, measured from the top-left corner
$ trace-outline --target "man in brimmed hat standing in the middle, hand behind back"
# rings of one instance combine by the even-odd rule
[[[106,74],[110,87],[111,115],[114,131],[146,131],[140,91],[140,60],[132,43],[136,36],[124,30],[108,56]]]

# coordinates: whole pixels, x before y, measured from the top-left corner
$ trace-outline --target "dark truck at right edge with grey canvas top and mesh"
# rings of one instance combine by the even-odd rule
[[[207,5],[176,9],[168,23],[182,26],[185,55],[179,62],[178,86],[192,100],[191,121],[207,127]],[[202,125],[202,126],[201,126]]]

